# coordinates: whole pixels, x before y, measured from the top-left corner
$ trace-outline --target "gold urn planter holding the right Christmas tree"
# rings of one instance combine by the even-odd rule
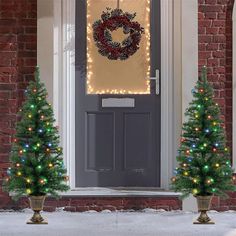
[[[196,196],[198,212],[200,212],[200,216],[197,218],[197,221],[195,221],[194,224],[215,224],[207,215],[207,211],[210,209],[212,197],[213,196]]]

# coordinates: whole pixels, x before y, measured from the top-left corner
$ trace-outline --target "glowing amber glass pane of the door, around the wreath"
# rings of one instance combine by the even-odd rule
[[[87,94],[150,94],[150,0],[120,0],[120,9],[134,13],[144,28],[140,48],[126,60],[110,60],[98,52],[92,25],[117,0],[87,0]],[[122,28],[111,32],[113,41],[128,37]]]

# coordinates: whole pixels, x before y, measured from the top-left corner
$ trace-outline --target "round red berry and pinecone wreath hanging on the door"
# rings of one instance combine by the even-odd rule
[[[98,52],[110,60],[126,60],[139,49],[144,28],[133,21],[136,13],[123,12],[121,9],[107,8],[101,19],[93,24],[93,38]],[[112,40],[111,32],[123,28],[124,34],[129,34],[121,43]]]

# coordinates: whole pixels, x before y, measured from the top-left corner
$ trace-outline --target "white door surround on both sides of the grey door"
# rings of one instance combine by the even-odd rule
[[[197,0],[161,0],[160,169],[163,189],[169,189],[183,110],[192,99],[191,88],[198,77],[197,11]],[[70,177],[71,191],[67,195],[88,195],[89,189],[93,190],[90,195],[97,195],[102,188],[75,187],[74,50],[75,0],[54,0],[53,106],[61,127],[64,158]],[[107,189],[105,192],[112,195]]]

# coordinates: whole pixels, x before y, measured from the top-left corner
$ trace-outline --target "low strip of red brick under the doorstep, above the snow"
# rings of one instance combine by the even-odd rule
[[[20,210],[29,207],[27,198],[20,202],[8,202],[6,209]],[[176,197],[63,197],[60,200],[47,198],[44,210],[55,211],[64,207],[65,211],[83,212],[88,210],[142,210],[145,208],[177,210],[182,209],[182,202]]]

